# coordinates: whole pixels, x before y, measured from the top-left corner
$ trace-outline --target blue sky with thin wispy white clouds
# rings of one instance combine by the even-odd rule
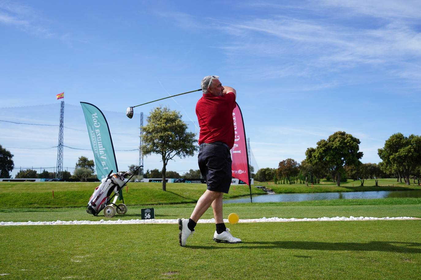
[[[237,90],[258,167],[301,161],[338,130],[358,137],[363,162],[393,133],[419,135],[421,5],[418,1],[4,1],[0,0],[0,120],[58,124],[64,144],[89,148],[79,102],[110,122],[116,150],[136,149],[139,114],[125,109],[200,88],[219,75]],[[197,126],[191,93],[160,104]],[[196,122],[196,124],[194,123]],[[81,131],[75,130],[80,129]],[[16,166],[55,166],[58,128],[0,122]],[[74,167],[91,151],[64,149]],[[117,152],[120,169],[138,162]],[[157,156],[145,168],[161,169]],[[169,170],[197,169],[195,157]],[[15,172],[13,172],[15,173]]]

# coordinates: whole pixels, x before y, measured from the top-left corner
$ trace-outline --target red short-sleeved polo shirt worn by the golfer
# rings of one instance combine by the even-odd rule
[[[221,96],[203,94],[196,104],[196,115],[200,126],[199,145],[224,142],[232,148],[234,145],[232,110],[235,107],[234,92]]]

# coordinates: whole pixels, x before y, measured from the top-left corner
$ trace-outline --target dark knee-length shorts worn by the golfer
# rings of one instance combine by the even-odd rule
[[[231,152],[226,145],[209,144],[199,149],[199,169],[208,190],[228,193],[232,182]]]

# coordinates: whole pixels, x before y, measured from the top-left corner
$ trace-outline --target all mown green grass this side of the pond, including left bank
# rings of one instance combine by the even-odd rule
[[[84,206],[96,185],[0,183],[3,204],[0,221],[104,219],[102,212],[99,217],[85,212]],[[55,198],[50,193],[51,187],[56,189]],[[140,219],[140,209],[145,207],[155,208],[156,219],[187,218],[195,206],[193,202],[204,189],[203,185],[169,184],[168,192],[164,193],[160,187],[159,183],[129,184],[128,193],[124,193],[129,204],[127,214],[110,219]],[[253,188],[253,193],[259,192]],[[247,193],[248,188],[237,186],[227,197]],[[155,201],[164,204],[155,204]],[[224,217],[232,212],[239,214],[240,219],[421,217],[421,198],[225,204]],[[204,219],[212,217],[211,210],[203,215]],[[215,226],[212,224],[198,224],[186,248],[179,246],[177,225],[151,225],[150,221],[146,225],[1,226],[0,277],[420,278],[421,220],[239,223],[227,226],[234,236],[242,238],[243,243],[215,243],[212,240]]]

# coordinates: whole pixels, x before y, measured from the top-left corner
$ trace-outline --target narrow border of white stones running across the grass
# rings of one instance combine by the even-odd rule
[[[260,219],[240,219],[239,223],[259,223],[259,222],[332,222],[332,221],[402,221],[402,220],[421,220],[420,218],[414,217],[322,217],[322,218],[260,218]],[[228,219],[224,219],[225,223],[228,223]],[[11,226],[11,225],[131,225],[131,224],[176,224],[177,219],[149,219],[149,220],[140,220],[140,219],[131,219],[131,220],[107,220],[101,219],[100,221],[53,221],[53,222],[0,222],[0,226]],[[199,224],[213,224],[215,219],[200,219]]]

